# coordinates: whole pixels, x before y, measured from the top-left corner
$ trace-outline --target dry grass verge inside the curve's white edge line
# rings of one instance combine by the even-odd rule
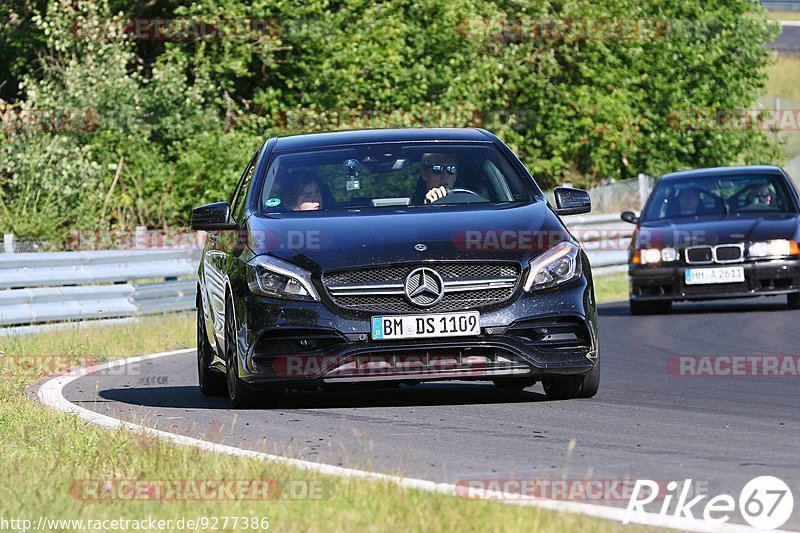
[[[24,372],[19,365],[8,364],[3,369],[13,368],[16,372],[0,372],[0,518],[29,519],[34,524],[41,516],[84,521],[172,520],[170,527],[162,531],[180,531],[177,520],[199,517],[216,518],[217,530],[226,531],[244,530],[241,522],[244,517],[267,518],[270,529],[280,531],[617,531],[620,528],[618,523],[591,517],[432,494],[387,482],[334,478],[268,461],[203,452],[124,430],[105,430],[41,406],[24,392],[25,386],[35,382],[41,371],[54,370],[47,363],[38,368],[36,361],[55,358],[66,368],[81,358],[105,360],[193,344],[191,315],[149,317],[132,324],[0,338],[0,350],[4,352],[0,357],[4,363],[15,357],[31,363]],[[163,487],[164,480],[184,480],[184,483],[276,480],[284,491],[279,496],[275,496],[278,492],[269,491],[270,498],[256,501],[109,501],[94,497],[97,480],[101,481],[100,487],[111,488],[117,495],[130,494],[124,487],[133,480],[144,483],[145,488],[155,480],[153,490]],[[294,487],[295,495],[302,496],[304,490],[310,490],[320,497],[293,498],[287,487]],[[223,528],[221,517],[240,517],[240,521],[234,527],[229,519]],[[84,522],[84,528],[87,523]],[[198,529],[210,530],[211,525]],[[52,524],[46,529],[77,531],[80,526]],[[106,523],[101,529],[113,531],[122,527]]]

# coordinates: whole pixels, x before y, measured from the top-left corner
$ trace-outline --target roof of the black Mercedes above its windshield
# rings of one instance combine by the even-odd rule
[[[347,130],[326,133],[307,133],[276,139],[276,151],[301,150],[345,144],[391,142],[492,142],[492,136],[480,128],[407,128]]]

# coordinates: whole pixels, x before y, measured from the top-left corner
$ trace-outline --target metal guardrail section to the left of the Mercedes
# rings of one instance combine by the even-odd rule
[[[0,326],[193,309],[200,250],[0,255]],[[161,282],[135,283],[164,279]]]

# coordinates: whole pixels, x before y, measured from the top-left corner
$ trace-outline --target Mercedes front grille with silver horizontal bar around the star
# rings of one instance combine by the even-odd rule
[[[406,276],[420,266],[392,265],[326,272],[322,284],[334,304],[343,309],[370,313],[418,313],[423,310],[435,313],[501,304],[513,296],[520,276],[519,265],[513,263],[425,263],[424,266],[439,273],[445,289],[441,301],[423,309],[406,300],[403,288]],[[459,283],[468,283],[468,290],[458,290]]]

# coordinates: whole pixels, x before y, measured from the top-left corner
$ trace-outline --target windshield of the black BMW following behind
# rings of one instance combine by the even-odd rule
[[[709,176],[659,182],[642,220],[771,212],[796,212],[783,176]]]

